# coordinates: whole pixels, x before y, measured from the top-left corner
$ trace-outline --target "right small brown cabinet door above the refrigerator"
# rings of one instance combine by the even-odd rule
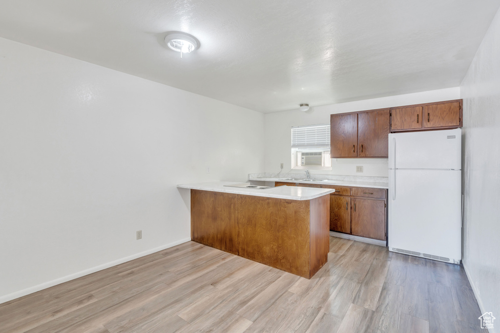
[[[423,127],[444,127],[460,125],[460,102],[425,105]]]

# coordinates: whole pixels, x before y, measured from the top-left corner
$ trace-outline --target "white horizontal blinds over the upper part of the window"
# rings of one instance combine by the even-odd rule
[[[330,125],[309,125],[291,128],[292,148],[329,148]]]

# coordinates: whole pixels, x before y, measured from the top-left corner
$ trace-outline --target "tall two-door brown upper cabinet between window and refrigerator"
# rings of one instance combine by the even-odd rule
[[[330,157],[388,157],[389,109],[330,115]]]

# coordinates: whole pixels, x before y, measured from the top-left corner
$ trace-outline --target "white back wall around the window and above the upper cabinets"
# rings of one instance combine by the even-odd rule
[[[268,113],[265,115],[265,171],[278,172],[279,163],[284,163],[283,172],[290,169],[290,149],[292,126],[325,124],[330,122],[330,114],[380,109],[391,106],[429,103],[460,98],[460,89],[448,88],[412,94],[365,99],[355,102],[316,106],[307,112],[299,110]],[[356,173],[356,165],[363,166],[363,173]],[[311,173],[332,175],[354,175],[388,177],[387,159],[331,160],[331,171],[313,170]],[[292,172],[300,172],[293,170]]]

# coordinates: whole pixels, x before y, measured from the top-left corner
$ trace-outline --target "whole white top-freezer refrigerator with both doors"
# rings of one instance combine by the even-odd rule
[[[389,251],[459,264],[461,129],[389,134]]]

